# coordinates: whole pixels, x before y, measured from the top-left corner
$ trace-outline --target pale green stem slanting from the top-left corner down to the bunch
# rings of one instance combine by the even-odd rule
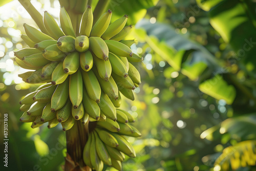
[[[42,15],[35,9],[35,7],[30,3],[30,1],[29,0],[18,0],[18,1],[28,11],[28,13],[34,19],[39,29],[43,33],[49,35],[49,32],[46,30],[44,23],[42,22]]]

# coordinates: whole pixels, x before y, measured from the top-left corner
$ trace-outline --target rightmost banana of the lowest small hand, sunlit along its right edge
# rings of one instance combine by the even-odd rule
[[[123,136],[118,135],[117,133],[112,133],[112,136],[116,138],[118,142],[117,149],[127,156],[130,157],[136,157],[135,151],[133,149],[133,146],[128,142]]]

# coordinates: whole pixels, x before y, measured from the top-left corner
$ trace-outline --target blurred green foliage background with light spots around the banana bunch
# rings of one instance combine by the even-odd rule
[[[31,3],[58,19],[58,1]],[[142,133],[129,138],[137,157],[126,159],[123,170],[256,170],[255,7],[252,0],[110,1],[114,20],[126,13],[128,24],[137,23],[126,39],[135,37],[131,48],[144,57],[136,66],[142,77],[136,100],[122,104]],[[26,72],[13,55],[27,46],[20,38],[23,23],[36,27],[18,1],[0,8],[0,117],[3,126],[8,113],[8,169],[61,170],[61,127],[31,129],[18,120],[19,100],[38,86],[17,76]],[[3,131],[0,137],[2,154]]]

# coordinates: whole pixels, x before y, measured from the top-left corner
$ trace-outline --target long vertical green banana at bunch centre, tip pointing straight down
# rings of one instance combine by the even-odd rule
[[[69,97],[75,109],[77,109],[82,102],[82,91],[82,74],[80,70],[78,70],[75,74],[70,75],[69,79]]]

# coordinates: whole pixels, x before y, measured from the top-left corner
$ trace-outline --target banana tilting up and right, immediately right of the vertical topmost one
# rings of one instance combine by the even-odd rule
[[[108,10],[99,17],[99,19],[92,28],[90,34],[91,37],[100,37],[106,31],[106,29],[108,29],[111,15],[112,11]]]

